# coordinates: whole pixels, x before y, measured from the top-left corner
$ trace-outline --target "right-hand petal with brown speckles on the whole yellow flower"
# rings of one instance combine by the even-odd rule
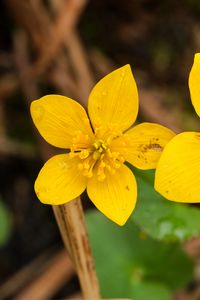
[[[122,154],[126,161],[139,169],[155,169],[163,148],[174,135],[164,126],[142,123],[114,140],[111,149]]]

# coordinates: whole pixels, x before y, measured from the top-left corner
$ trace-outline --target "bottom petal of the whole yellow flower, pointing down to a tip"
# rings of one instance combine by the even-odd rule
[[[137,185],[133,173],[122,165],[115,174],[107,172],[103,181],[99,181],[96,175],[90,178],[87,192],[104,215],[122,226],[135,207]]]

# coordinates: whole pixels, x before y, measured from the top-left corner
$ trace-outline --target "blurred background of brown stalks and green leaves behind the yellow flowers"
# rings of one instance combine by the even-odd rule
[[[80,293],[52,208],[33,190],[43,162],[58,150],[36,132],[31,101],[57,93],[86,107],[92,86],[129,63],[139,89],[138,121],[175,132],[198,130],[188,90],[198,51],[198,0],[0,2],[0,299],[72,299]],[[151,190],[151,203],[170,213],[160,217],[159,226],[149,224],[159,205],[145,206],[153,174],[145,176],[141,207],[122,230],[83,196],[103,296],[198,300],[199,206],[177,205],[172,212],[172,204]]]

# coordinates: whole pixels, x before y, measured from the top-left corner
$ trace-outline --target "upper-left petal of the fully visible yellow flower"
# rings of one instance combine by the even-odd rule
[[[84,108],[76,101],[59,95],[48,95],[31,103],[31,116],[43,138],[60,148],[70,148],[79,133],[88,135],[92,130]]]

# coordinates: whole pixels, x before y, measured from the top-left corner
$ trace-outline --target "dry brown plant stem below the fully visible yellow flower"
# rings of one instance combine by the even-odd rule
[[[74,260],[83,299],[101,299],[80,198],[53,206],[53,210],[63,242]]]

